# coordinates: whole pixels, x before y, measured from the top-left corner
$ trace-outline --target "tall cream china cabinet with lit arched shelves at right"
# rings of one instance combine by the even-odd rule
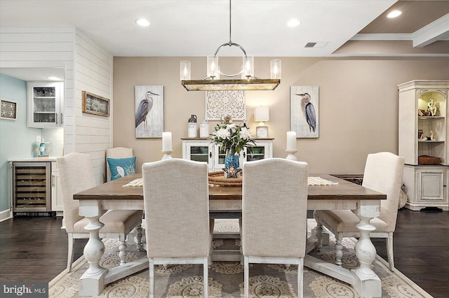
[[[405,157],[406,208],[449,210],[449,80],[413,80],[398,85],[399,152]],[[441,162],[423,162],[422,156]],[[420,158],[421,157],[421,158]]]

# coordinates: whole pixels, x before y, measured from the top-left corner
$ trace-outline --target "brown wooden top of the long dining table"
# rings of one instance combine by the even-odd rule
[[[386,194],[375,192],[361,185],[330,176],[328,174],[309,174],[313,177],[321,177],[326,180],[337,182],[337,185],[309,185],[307,199],[335,200],[335,199],[387,199]],[[108,183],[103,183],[74,194],[74,199],[143,199],[142,186],[123,187],[132,180],[142,178],[142,174],[133,174],[119,178]],[[209,186],[209,199],[237,199],[241,200],[241,186]]]

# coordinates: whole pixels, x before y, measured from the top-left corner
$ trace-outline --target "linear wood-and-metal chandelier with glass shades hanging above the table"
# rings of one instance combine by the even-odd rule
[[[205,90],[274,90],[281,83],[281,60],[270,61],[270,78],[261,79],[254,76],[254,56],[247,55],[246,50],[238,43],[233,43],[231,38],[231,0],[229,0],[229,42],[220,45],[214,55],[207,57],[207,76],[202,80],[191,80],[191,63],[182,60],[180,63],[181,85],[187,91]],[[218,64],[218,51],[225,45],[236,46],[243,52],[241,70],[234,74],[220,71]],[[226,79],[220,76],[227,77]],[[240,76],[240,78],[238,78]],[[234,78],[237,77],[237,78]],[[232,79],[228,79],[232,78]]]

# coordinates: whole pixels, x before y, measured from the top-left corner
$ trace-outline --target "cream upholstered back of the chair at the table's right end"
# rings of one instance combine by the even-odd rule
[[[404,158],[391,152],[369,154],[363,173],[364,187],[387,194],[381,201],[379,218],[387,223],[387,231],[394,232],[401,196]]]

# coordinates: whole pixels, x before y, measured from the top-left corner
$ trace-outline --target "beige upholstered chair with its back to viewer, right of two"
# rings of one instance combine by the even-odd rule
[[[243,164],[241,248],[246,298],[249,263],[297,264],[298,297],[302,297],[307,174],[307,163],[287,159]]]

